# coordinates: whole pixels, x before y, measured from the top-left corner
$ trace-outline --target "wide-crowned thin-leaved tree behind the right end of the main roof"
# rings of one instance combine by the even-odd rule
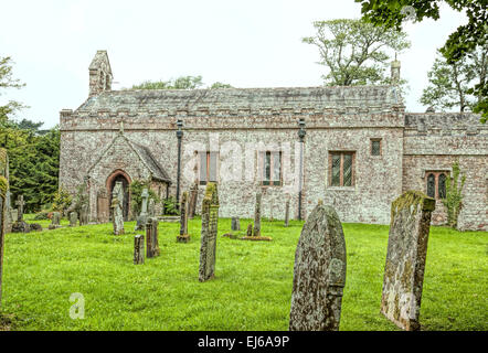
[[[401,52],[410,47],[405,33],[363,20],[316,21],[314,28],[316,34],[303,42],[319,49],[318,64],[329,69],[322,76],[328,86],[390,84],[384,73],[390,64],[385,50]]]

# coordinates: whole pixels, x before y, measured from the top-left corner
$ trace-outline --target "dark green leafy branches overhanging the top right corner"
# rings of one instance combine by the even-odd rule
[[[439,3],[445,2],[456,11],[465,10],[468,23],[459,25],[450,33],[439,50],[448,64],[454,64],[473,52],[477,46],[488,43],[487,0],[356,0],[360,2],[363,19],[375,25],[402,29],[409,18],[422,21],[425,18],[439,18]],[[473,111],[481,114],[481,122],[488,119],[488,82],[485,76],[471,84],[467,93],[478,97]]]

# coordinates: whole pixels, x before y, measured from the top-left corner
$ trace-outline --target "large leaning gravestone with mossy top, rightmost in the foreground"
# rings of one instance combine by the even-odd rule
[[[407,191],[393,201],[381,312],[397,327],[420,329],[422,287],[435,200]]]

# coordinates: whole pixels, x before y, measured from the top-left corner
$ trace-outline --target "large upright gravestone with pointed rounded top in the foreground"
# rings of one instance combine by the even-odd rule
[[[346,285],[346,242],[331,206],[317,205],[295,253],[290,331],[339,330]]]

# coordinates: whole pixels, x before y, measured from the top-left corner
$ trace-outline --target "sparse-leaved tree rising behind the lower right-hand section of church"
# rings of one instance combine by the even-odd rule
[[[450,109],[459,107],[473,109],[481,96],[469,95],[474,82],[482,82],[488,68],[488,45],[477,47],[468,55],[449,64],[438,52],[432,69],[428,72],[429,85],[424,89],[421,103],[427,106]]]

